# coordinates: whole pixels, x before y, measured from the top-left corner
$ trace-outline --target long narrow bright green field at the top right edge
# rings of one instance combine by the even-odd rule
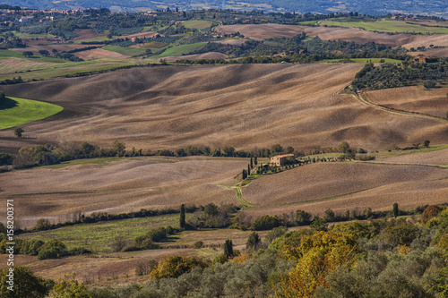
[[[448,34],[448,28],[444,27],[428,27],[416,24],[409,24],[404,21],[392,21],[392,20],[381,20],[381,21],[352,21],[351,19],[338,19],[340,21],[321,21],[320,25],[324,26],[337,26],[337,27],[354,27],[362,28],[369,31],[380,31],[380,32],[404,32],[404,33],[439,33]],[[304,23],[314,24],[315,21],[307,21]]]

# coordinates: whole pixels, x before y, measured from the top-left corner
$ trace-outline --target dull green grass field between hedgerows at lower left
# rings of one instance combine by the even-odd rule
[[[22,239],[40,239],[48,241],[58,239],[68,249],[83,246],[95,253],[112,252],[110,245],[116,236],[122,236],[132,243],[134,238],[146,234],[149,230],[160,226],[179,227],[179,215],[170,214],[158,217],[113,220],[94,224],[64,226],[55,230],[22,234]]]

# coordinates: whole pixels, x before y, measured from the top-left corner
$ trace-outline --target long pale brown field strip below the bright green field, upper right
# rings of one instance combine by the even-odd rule
[[[220,26],[216,30],[219,32],[235,33],[240,32],[246,38],[262,40],[266,38],[291,38],[297,34],[305,32],[310,37],[318,36],[323,40],[345,40],[364,44],[375,41],[379,44],[391,47],[421,47],[435,45],[440,47],[448,46],[446,35],[411,35],[411,34],[380,34],[357,28],[336,28],[336,27],[309,27],[299,25],[282,24],[247,24],[247,25],[226,25]]]

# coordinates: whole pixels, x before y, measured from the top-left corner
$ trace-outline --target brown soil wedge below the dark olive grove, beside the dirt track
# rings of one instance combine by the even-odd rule
[[[418,87],[381,89],[366,92],[366,98],[378,105],[427,115],[446,116],[448,88],[425,90]]]

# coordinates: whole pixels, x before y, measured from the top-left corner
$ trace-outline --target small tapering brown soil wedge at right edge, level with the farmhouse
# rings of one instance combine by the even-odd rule
[[[381,158],[377,161],[392,164],[428,164],[448,166],[448,149],[436,150],[432,152],[419,152],[393,158]]]

